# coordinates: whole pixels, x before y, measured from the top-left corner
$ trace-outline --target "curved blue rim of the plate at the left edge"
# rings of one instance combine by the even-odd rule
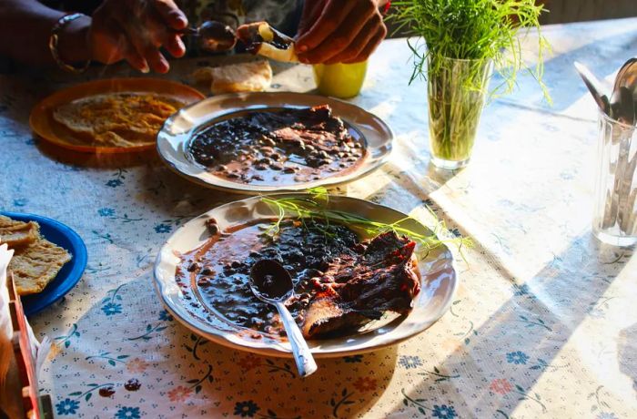
[[[76,250],[75,253],[72,253],[73,260],[75,260],[74,262],[75,264],[73,266],[73,269],[70,272],[68,272],[68,274],[66,275],[66,279],[63,282],[65,286],[59,289],[56,289],[56,292],[53,297],[46,299],[45,302],[35,301],[33,303],[30,301],[24,301],[25,297],[27,297],[26,295],[22,297],[23,306],[25,308],[25,314],[27,316],[32,316],[39,312],[42,312],[43,310],[45,310],[45,308],[50,307],[51,305],[55,304],[57,301],[60,301],[69,291],[73,290],[77,282],[79,282],[82,279],[82,276],[84,275],[84,271],[86,271],[86,263],[88,261],[88,251],[86,250],[86,243],[84,242],[84,240],[82,240],[82,237],[76,232],[76,230],[71,229],[66,224],[58,220],[54,220],[54,219],[33,214],[30,212],[15,212],[15,211],[0,210],[0,214],[15,220],[20,220],[20,219],[32,220],[32,221],[36,221],[38,224],[43,223],[49,227],[52,227],[56,229],[57,231],[61,232],[64,236],[66,236],[68,240],[71,242],[71,244],[73,244],[73,247]],[[46,237],[45,239],[49,240]],[[51,240],[51,242],[59,246],[59,244],[56,243],[55,241]],[[66,250],[71,251],[69,249],[66,249]],[[74,278],[74,275],[76,275],[76,278]],[[66,281],[68,278],[73,278],[73,279],[71,281]],[[57,279],[57,276],[56,278],[54,278],[54,281],[56,279]],[[35,293],[32,295],[37,296],[38,293]]]

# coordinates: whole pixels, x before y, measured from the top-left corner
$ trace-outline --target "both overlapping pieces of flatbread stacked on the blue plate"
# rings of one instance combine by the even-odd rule
[[[17,221],[0,215],[0,243],[6,243],[15,251],[9,271],[14,274],[20,295],[44,290],[71,260],[68,251],[40,235],[40,225],[35,221]]]

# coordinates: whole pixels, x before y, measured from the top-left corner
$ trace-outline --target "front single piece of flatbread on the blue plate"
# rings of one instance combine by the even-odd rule
[[[15,249],[14,257],[9,262],[9,271],[14,274],[18,294],[43,291],[70,260],[68,251],[42,238],[26,247]]]

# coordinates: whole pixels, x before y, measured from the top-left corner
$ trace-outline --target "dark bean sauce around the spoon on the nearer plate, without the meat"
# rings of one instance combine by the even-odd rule
[[[359,237],[341,225],[306,221],[303,226],[299,221],[286,220],[280,226],[278,239],[273,241],[266,234],[271,225],[261,222],[217,235],[203,247],[183,255],[177,277],[193,284],[205,306],[229,322],[284,335],[276,308],[258,300],[250,290],[252,266],[262,259],[284,265],[295,291],[286,305],[300,326],[313,293],[321,289],[319,277],[329,263],[360,251]],[[196,269],[191,271],[194,264]]]

